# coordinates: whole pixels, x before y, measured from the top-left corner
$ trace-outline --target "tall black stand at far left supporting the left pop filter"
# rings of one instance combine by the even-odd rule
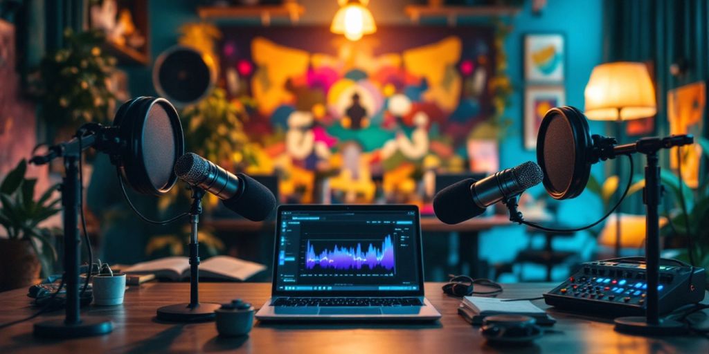
[[[83,134],[79,132],[77,134]],[[100,139],[100,138],[99,138]],[[42,321],[34,325],[35,336],[50,338],[77,338],[98,336],[113,331],[113,324],[104,317],[82,317],[79,314],[79,205],[82,198],[79,183],[79,159],[82,150],[99,143],[96,135],[74,138],[50,147],[48,154],[34,156],[30,163],[48,164],[57,157],[64,159],[65,176],[62,179],[62,207],[64,207],[64,282],[67,287],[65,319]],[[90,269],[89,265],[89,269]],[[89,270],[90,271],[90,270]]]

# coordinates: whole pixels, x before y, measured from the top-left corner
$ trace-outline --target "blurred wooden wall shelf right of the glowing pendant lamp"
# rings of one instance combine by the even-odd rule
[[[451,25],[456,18],[474,16],[514,16],[521,8],[517,6],[428,6],[408,5],[404,12],[411,21],[418,23],[422,17],[445,17]]]

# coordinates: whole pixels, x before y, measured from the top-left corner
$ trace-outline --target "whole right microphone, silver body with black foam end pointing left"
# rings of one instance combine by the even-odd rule
[[[500,200],[522,193],[542,182],[542,169],[532,161],[475,181],[473,178],[443,188],[433,198],[433,211],[440,221],[457,224],[485,212]]]

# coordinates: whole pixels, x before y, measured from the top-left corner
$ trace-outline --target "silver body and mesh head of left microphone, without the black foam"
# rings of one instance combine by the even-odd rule
[[[177,176],[186,183],[202,188],[222,200],[238,195],[242,188],[241,181],[233,173],[196,154],[188,153],[181,157],[175,170]]]

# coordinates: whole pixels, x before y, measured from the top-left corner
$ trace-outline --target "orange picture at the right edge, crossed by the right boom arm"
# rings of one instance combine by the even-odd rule
[[[702,136],[704,131],[704,107],[706,105],[706,86],[703,81],[695,82],[667,93],[667,119],[670,134],[693,134]],[[690,188],[699,185],[699,165],[702,149],[699,144],[681,147],[681,161],[677,154],[669,154],[670,167],[676,169],[682,165],[682,178]]]

